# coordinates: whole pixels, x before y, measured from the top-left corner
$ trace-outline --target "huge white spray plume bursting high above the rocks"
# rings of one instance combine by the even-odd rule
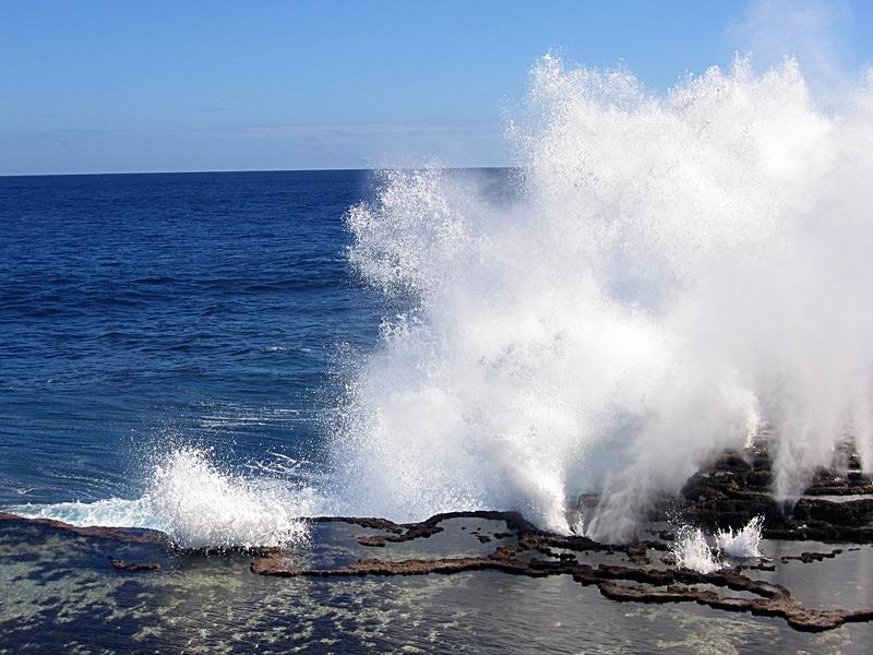
[[[412,298],[335,444],[349,511],[516,508],[629,537],[656,492],[766,421],[774,492],[851,433],[873,466],[873,75],[824,112],[797,63],[738,60],[666,96],[533,72],[521,198],[435,170],[354,207],[350,259]]]

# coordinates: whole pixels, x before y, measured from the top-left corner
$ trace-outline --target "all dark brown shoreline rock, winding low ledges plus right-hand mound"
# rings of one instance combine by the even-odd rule
[[[379,550],[388,557],[356,557],[348,561],[300,562],[292,549],[261,548],[246,551],[252,557],[250,570],[274,577],[352,577],[455,574],[498,571],[528,577],[571,576],[585,586],[596,586],[607,598],[621,603],[696,603],[717,610],[778,617],[801,631],[832,630],[847,622],[873,621],[873,608],[812,608],[801,604],[789,590],[760,576],[789,563],[814,564],[833,559],[860,546],[873,544],[873,491],[860,474],[857,460],[849,458],[845,471],[822,472],[804,497],[787,508],[767,495],[769,461],[763,451],[725,453],[693,476],[680,498],[665,499],[650,512],[654,526],[668,516],[708,528],[739,527],[754,516],[764,517],[763,536],[787,541],[845,544],[829,551],[803,551],[776,560],[736,563],[710,573],[675,565],[672,556],[674,535],[670,529],[650,528],[653,538],[631,544],[601,544],[584,536],[551,534],[538,529],[516,512],[452,512],[419,523],[398,524],[376,517],[318,516],[304,521],[319,525],[343,524],[366,532],[354,535],[354,548]],[[823,496],[839,497],[839,501]],[[860,498],[852,498],[853,496]],[[458,528],[458,522],[466,522]],[[467,531],[467,524],[476,525]],[[76,527],[47,519],[24,519],[0,513],[3,526],[40,526],[104,543],[152,544],[172,551],[170,538],[148,529],[119,527]],[[475,538],[479,548],[490,551],[451,557],[392,558],[392,549],[411,541],[427,545],[436,535],[453,532],[458,541]],[[467,531],[467,532],[462,532]],[[406,552],[399,552],[399,556]],[[156,561],[130,561],[108,557],[108,565],[120,573],[159,572]]]

